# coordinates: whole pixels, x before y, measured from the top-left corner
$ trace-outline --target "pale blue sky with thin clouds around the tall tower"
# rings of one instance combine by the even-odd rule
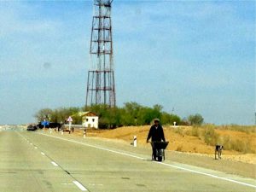
[[[117,103],[252,125],[254,1],[113,1]],[[92,1],[0,2],[0,124],[83,106]]]

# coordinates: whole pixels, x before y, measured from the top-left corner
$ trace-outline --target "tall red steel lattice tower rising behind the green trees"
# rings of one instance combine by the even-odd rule
[[[115,107],[113,72],[113,41],[111,4],[113,0],[94,0],[94,14],[90,36],[91,67],[88,71],[86,107],[104,104]]]

